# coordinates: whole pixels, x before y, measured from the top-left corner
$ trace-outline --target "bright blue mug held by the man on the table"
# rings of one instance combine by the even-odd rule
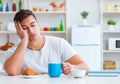
[[[48,64],[48,75],[52,78],[60,77],[62,73],[61,63],[49,63]]]

